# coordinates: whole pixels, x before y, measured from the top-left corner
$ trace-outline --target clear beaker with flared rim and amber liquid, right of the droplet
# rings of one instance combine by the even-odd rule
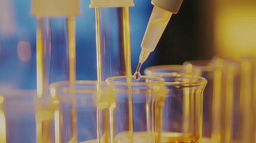
[[[162,116],[161,142],[198,142],[202,137],[202,104],[206,79],[182,65],[153,66],[146,75],[161,76],[168,88]],[[193,76],[194,75],[194,76]],[[198,113],[196,113],[198,112]]]

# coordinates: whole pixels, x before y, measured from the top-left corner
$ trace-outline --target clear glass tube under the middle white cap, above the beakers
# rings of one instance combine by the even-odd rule
[[[131,75],[129,7],[95,8],[97,80]]]

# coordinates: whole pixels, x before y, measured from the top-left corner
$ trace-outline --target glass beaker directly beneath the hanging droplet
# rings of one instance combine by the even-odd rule
[[[160,77],[115,76],[106,79],[113,88],[113,142],[159,142],[161,110],[166,88]]]

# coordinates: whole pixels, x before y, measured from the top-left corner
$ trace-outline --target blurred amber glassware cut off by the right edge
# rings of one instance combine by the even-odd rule
[[[239,102],[236,102],[238,108],[239,127],[234,130],[237,142],[255,142],[255,93],[256,93],[256,75],[255,75],[255,56],[243,56],[240,60],[240,95]]]

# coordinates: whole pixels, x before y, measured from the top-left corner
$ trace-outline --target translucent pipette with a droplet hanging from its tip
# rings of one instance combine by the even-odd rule
[[[154,5],[147,24],[147,29],[141,42],[141,52],[134,79],[140,79],[140,69],[144,61],[149,57],[158,44],[172,13],[177,14],[183,0],[152,0]]]

